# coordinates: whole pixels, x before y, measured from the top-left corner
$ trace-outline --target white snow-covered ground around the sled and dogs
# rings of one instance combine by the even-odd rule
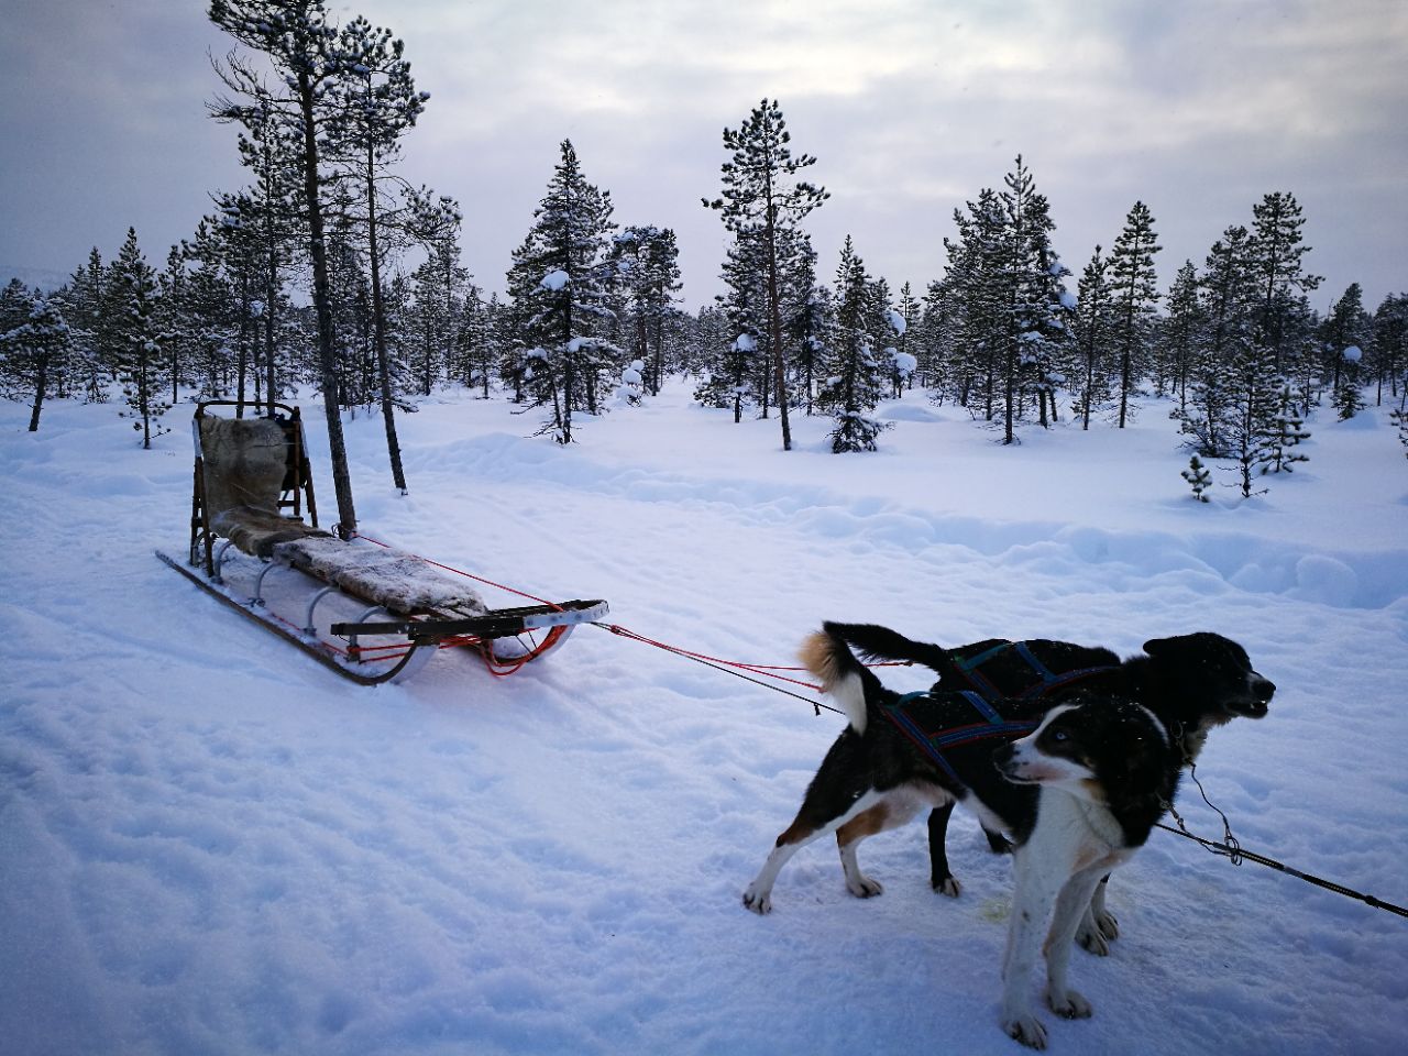
[[[728,659],[788,663],[824,618],[1136,652],[1215,629],[1278,684],[1217,731],[1208,796],[1247,849],[1408,904],[1408,463],[1385,415],[1309,422],[1269,494],[1190,497],[1148,406],[1017,449],[918,394],[874,455],[825,422],[660,398],[579,422],[445,397],[348,427],[362,527]],[[308,407],[332,508],[321,411]],[[144,452],[115,408],[0,404],[0,1050],[1015,1053],[997,1026],[1010,866],[955,818],[866,843],[886,894],[797,856],[739,893],[839,717],[586,627],[496,680],[444,653],[356,689],[161,565],[190,511],[184,417]],[[514,598],[501,598],[513,604]],[[919,672],[888,670],[901,689]],[[1188,824],[1221,835],[1191,784]],[[1067,1053],[1390,1053],[1408,921],[1156,832],[1081,952]]]

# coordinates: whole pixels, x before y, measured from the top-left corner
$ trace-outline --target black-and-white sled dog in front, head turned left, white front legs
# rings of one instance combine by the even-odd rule
[[[848,888],[879,894],[880,886],[859,870],[856,843],[925,807],[963,801],[984,828],[1012,838],[1017,890],[1001,1018],[1008,1033],[1041,1048],[1045,1028],[1031,997],[1038,950],[1046,939],[1050,1007],[1060,1015],[1090,1015],[1090,1004],[1066,983],[1071,942],[1101,877],[1145,842],[1171,803],[1187,731],[1129,696],[1086,687],[1056,705],[1043,703],[1039,724],[1028,722],[1036,728],[1021,741],[959,742],[935,756],[894,721],[905,698],[856,659],[846,645],[852,634],[855,625],[825,624],[803,648],[803,662],[849,725],[743,904],[769,912],[783,866],[828,832],[836,834]]]

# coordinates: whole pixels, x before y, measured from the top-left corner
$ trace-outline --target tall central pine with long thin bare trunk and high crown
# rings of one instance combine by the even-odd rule
[[[731,152],[721,169],[724,193],[707,208],[718,210],[735,238],[755,237],[762,284],[766,296],[767,353],[772,360],[773,394],[783,431],[783,451],[791,451],[787,421],[787,356],[783,349],[783,252],[784,230],[796,228],[829,196],[825,189],[798,179],[817,159],[793,156],[791,134],[777,100],[765,99],[738,130],[724,130],[724,149]]]

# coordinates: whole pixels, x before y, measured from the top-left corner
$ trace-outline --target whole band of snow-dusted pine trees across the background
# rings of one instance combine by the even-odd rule
[[[1018,156],[955,208],[941,273],[895,286],[867,270],[863,232],[812,244],[805,218],[828,193],[804,177],[818,159],[793,152],[765,99],[725,128],[701,200],[731,237],[714,303],[684,307],[674,232],[618,221],[570,141],[543,159],[505,296],[486,296],[460,265],[459,204],[398,172],[429,108],[401,41],[360,17],[338,25],[320,0],[215,0],[208,14],[235,45],[208,110],[249,180],[213,191],[156,263],[130,230],[59,289],[0,291],[3,391],[32,406],[31,429],[48,398],[111,400],[149,446],[183,398],[253,408],[313,387],[335,463],[342,410],[382,414],[403,491],[396,413],[446,386],[521,404],[562,444],[583,414],[690,386],[735,422],[774,417],[784,449],[788,415],[828,415],[838,453],[874,449],[876,406],[911,390],[1002,444],[1053,422],[1124,428],[1153,394],[1174,401],[1195,494],[1200,458],[1235,466],[1245,496],[1291,470],[1305,415],[1326,404],[1350,418],[1390,403],[1408,442],[1408,296],[1366,306],[1354,283],[1312,307],[1322,280],[1293,193],[1249,203],[1201,265],[1159,260],[1143,201],[1108,246],[1067,260]]]

